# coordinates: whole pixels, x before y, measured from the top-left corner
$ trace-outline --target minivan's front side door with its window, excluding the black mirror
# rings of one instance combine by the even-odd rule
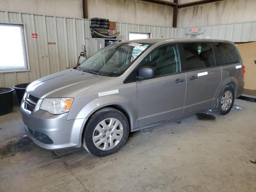
[[[138,70],[142,66],[154,66],[158,74],[154,78],[136,82],[140,126],[182,115],[186,75],[180,72],[178,46],[159,46],[142,60]]]

